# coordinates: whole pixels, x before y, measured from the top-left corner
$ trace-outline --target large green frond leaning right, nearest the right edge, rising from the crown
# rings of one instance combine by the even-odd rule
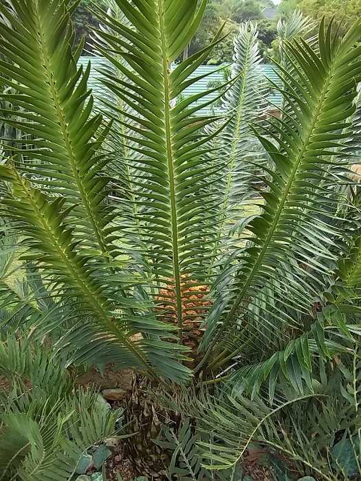
[[[339,41],[338,38],[329,37],[321,25],[323,47],[320,54],[312,52],[305,43],[289,45],[298,62],[297,69],[303,79],[305,94],[294,94],[291,104],[295,119],[289,126],[283,124],[285,131],[281,131],[279,137],[267,132],[274,137],[274,143],[259,137],[274,161],[274,172],[270,171],[272,198],[265,197],[263,213],[248,225],[253,237],[245,249],[245,255],[240,259],[237,273],[239,291],[234,296],[223,323],[221,326],[218,324],[217,335],[214,336],[215,324],[208,326],[208,333],[204,337],[204,346],[210,342],[206,359],[237,311],[247,312],[243,302],[250,295],[258,296],[259,289],[265,285],[272,289],[272,280],[277,276],[280,259],[289,263],[292,269],[296,268],[292,289],[302,287],[304,302],[308,302],[311,308],[313,297],[311,290],[307,293],[304,289],[309,282],[307,268],[304,266],[311,265],[326,273],[327,262],[332,258],[327,247],[333,243],[327,233],[327,225],[314,223],[311,217],[313,210],[318,212],[322,209],[324,201],[322,190],[314,183],[314,172],[329,175],[322,157],[330,155],[331,160],[328,162],[336,162],[337,150],[333,146],[329,148],[327,133],[332,133],[333,145],[341,144],[344,133],[340,133],[339,126],[355,108],[355,80],[361,78],[361,66],[355,63],[355,67],[350,69],[350,65],[361,53],[360,47],[353,48],[360,32],[360,23],[355,23],[347,36]],[[292,84],[294,78],[287,72],[285,75]],[[340,91],[342,85],[347,85],[349,91]],[[295,142],[291,142],[288,133],[296,139]],[[276,146],[277,143],[279,147]],[[333,177],[330,181],[331,179]],[[298,265],[294,264],[294,256],[298,258]],[[287,291],[289,279],[280,279]],[[299,296],[289,296],[289,300],[294,304],[293,309],[303,312],[304,302],[299,303]]]

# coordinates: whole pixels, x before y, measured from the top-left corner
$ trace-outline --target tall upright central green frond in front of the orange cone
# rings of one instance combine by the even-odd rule
[[[138,214],[133,225],[126,225],[122,233],[142,240],[142,252],[151,266],[151,293],[159,296],[159,287],[166,287],[162,308],[175,311],[182,340],[184,321],[189,321],[182,291],[208,282],[209,246],[215,238],[219,190],[208,195],[206,201],[204,192],[219,166],[203,157],[209,150],[207,142],[217,132],[206,135],[202,128],[215,118],[192,116],[204,107],[195,102],[209,91],[178,103],[175,100],[197,80],[190,75],[215,43],[171,70],[197,30],[206,2],[202,1],[199,8],[191,0],[116,3],[132,26],[99,13],[100,20],[120,34],[111,39],[111,45],[99,48],[122,74],[117,78],[104,71],[104,83],[131,108],[118,109],[117,114],[127,119],[126,126],[133,133],[124,137],[141,154],[133,162]],[[107,35],[99,31],[98,36],[104,39],[103,44],[107,43]],[[219,36],[220,32],[215,42]],[[122,157],[116,161],[122,162]]]

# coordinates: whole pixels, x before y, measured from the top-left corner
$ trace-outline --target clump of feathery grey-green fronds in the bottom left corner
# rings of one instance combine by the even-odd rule
[[[23,338],[0,344],[0,376],[10,381],[0,396],[0,479],[70,480],[84,451],[114,434],[122,410],[74,391],[54,353]]]

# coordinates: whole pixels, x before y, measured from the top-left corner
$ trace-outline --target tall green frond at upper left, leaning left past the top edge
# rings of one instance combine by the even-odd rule
[[[65,195],[75,205],[72,225],[85,245],[111,251],[105,226],[112,219],[103,203],[109,179],[99,172],[105,159],[100,115],[91,116],[93,98],[87,89],[90,65],[76,67],[72,52],[74,29],[65,3],[16,0],[14,13],[6,5],[0,12],[4,59],[3,82],[12,88],[1,99],[11,102],[17,119],[4,122],[24,134],[20,172],[52,195]],[[30,21],[32,19],[32,21]],[[32,138],[25,139],[25,135]],[[70,220],[69,220],[70,221]]]

